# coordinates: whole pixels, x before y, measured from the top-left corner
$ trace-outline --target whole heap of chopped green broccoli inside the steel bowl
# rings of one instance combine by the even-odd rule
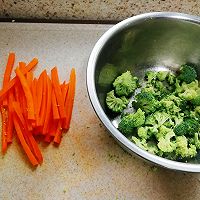
[[[114,80],[110,95],[117,102],[110,103],[114,111],[106,99],[113,112],[117,108],[122,113],[127,105],[132,108],[121,115],[118,130],[138,147],[171,160],[187,161],[197,155],[200,85],[192,66],[181,65],[176,73],[147,71],[143,80],[127,71]]]

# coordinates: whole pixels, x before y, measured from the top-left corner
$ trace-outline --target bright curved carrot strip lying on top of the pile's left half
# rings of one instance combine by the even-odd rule
[[[28,119],[34,120],[35,119],[35,112],[34,112],[33,96],[32,96],[31,90],[28,86],[28,82],[27,82],[25,76],[23,75],[23,73],[20,71],[19,68],[17,68],[15,70],[15,72],[16,72],[17,77],[20,80],[24,94],[26,96]]]

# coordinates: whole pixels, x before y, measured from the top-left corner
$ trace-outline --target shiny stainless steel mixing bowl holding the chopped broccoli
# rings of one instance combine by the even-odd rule
[[[105,107],[113,74],[129,69],[141,77],[149,68],[176,70],[187,62],[196,64],[200,74],[200,17],[170,12],[138,15],[116,24],[96,43],[88,62],[87,88],[98,117],[128,152],[169,169],[200,172],[198,158],[176,162],[137,147],[115,128],[114,116]],[[106,63],[115,67],[107,70]]]

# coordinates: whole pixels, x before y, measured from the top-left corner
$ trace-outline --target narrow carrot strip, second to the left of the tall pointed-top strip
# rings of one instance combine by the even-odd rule
[[[39,119],[39,126],[44,124],[45,115],[46,115],[46,105],[47,105],[47,72],[44,71],[43,75],[43,93],[42,93],[42,104],[40,109],[40,119]]]

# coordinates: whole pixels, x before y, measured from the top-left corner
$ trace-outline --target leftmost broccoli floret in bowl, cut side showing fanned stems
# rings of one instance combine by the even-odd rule
[[[114,90],[107,93],[106,104],[108,108],[113,112],[116,113],[122,112],[123,109],[126,108],[128,103],[129,101],[128,99],[126,99],[126,97],[121,97],[121,98],[116,97],[114,94]]]

